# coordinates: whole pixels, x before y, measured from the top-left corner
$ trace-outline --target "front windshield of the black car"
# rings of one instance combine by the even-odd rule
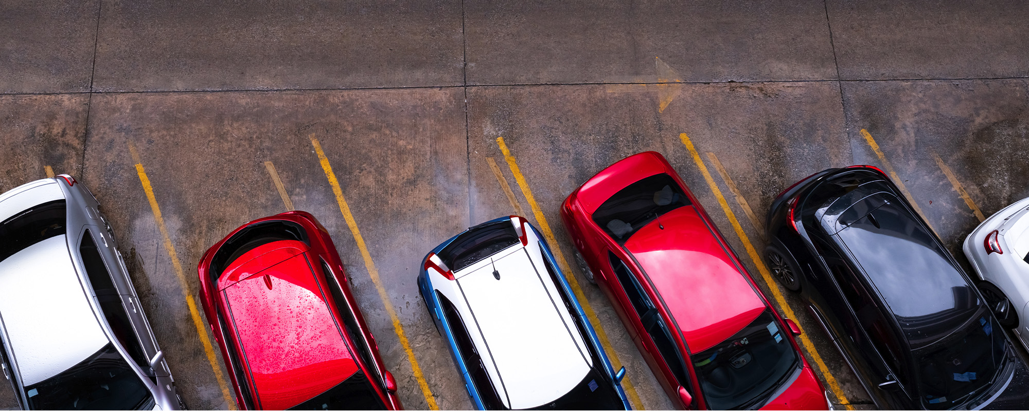
[[[918,394],[926,409],[944,410],[967,402],[990,385],[1004,360],[1005,339],[984,308],[967,327],[915,350]]]

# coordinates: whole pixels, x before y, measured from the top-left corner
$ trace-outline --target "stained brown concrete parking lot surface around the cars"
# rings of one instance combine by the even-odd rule
[[[1029,196],[1027,18],[1016,1],[4,0],[0,191],[62,173],[92,190],[191,408],[236,406],[190,305],[197,262],[248,221],[304,210],[404,406],[467,409],[422,258],[518,214],[571,262],[561,201],[659,151],[805,330],[838,409],[870,409],[755,259],[765,215],[800,179],[872,164],[964,263],[983,217]],[[671,408],[606,297],[565,269],[634,407]],[[0,408],[16,407],[5,385]]]

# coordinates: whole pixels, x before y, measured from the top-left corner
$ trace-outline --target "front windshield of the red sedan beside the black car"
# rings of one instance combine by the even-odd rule
[[[796,352],[784,333],[767,308],[736,335],[691,356],[708,408],[764,405],[797,367]]]

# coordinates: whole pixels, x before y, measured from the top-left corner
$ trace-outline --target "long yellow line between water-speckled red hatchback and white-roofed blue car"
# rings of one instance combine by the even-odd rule
[[[347,204],[347,200],[343,197],[343,189],[340,187],[340,181],[336,180],[335,173],[332,173],[332,166],[328,163],[328,157],[322,151],[321,143],[318,142],[315,135],[311,135],[311,144],[315,146],[315,152],[318,153],[318,160],[325,172],[325,177],[328,178],[328,184],[332,186],[332,193],[335,194],[335,200],[340,203],[340,212],[343,213],[343,219],[347,221],[347,226],[350,227],[351,234],[354,234],[354,241],[357,242],[357,248],[361,251],[361,258],[364,259],[364,267],[368,270],[368,276],[371,277],[371,283],[376,285],[376,290],[379,291],[379,298],[383,300],[386,312],[393,320],[393,331],[396,332],[396,336],[400,339],[400,345],[403,346],[403,350],[407,353],[411,369],[415,374],[415,379],[418,380],[418,385],[422,388],[425,402],[428,404],[429,409],[438,410],[439,407],[436,406],[436,400],[429,389],[429,384],[425,381],[425,375],[422,374],[422,368],[418,366],[418,360],[415,359],[415,351],[411,349],[407,337],[403,333],[400,317],[397,316],[396,310],[393,309],[393,303],[389,300],[389,294],[386,293],[386,288],[383,287],[382,281],[379,278],[379,270],[376,269],[376,263],[371,261],[371,254],[368,253],[368,248],[364,245],[364,237],[361,236],[361,231],[357,229],[357,221],[354,220],[354,215],[350,213],[350,206]]]

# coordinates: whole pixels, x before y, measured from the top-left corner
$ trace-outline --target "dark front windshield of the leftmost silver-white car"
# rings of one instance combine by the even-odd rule
[[[111,343],[65,372],[25,387],[30,409],[140,410],[153,408],[143,380]]]

